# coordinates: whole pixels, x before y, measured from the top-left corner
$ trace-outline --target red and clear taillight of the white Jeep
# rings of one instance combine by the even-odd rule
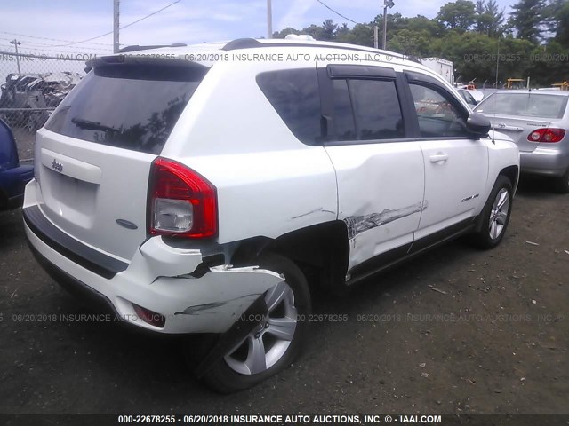
[[[217,233],[215,186],[179,162],[157,158],[148,191],[148,233],[188,238]]]

